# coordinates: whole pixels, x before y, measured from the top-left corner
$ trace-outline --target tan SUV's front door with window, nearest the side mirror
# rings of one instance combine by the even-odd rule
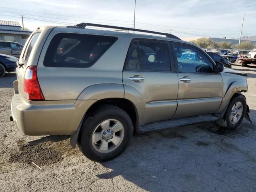
[[[174,43],[178,69],[177,111],[174,118],[210,114],[222,102],[222,76],[214,73],[215,64],[196,46]],[[180,54],[180,52],[182,54]]]

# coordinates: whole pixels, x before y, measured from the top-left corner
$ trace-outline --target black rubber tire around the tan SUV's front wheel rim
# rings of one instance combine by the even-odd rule
[[[235,124],[232,124],[231,121],[230,121],[230,113],[231,113],[232,107],[234,106],[234,104],[236,102],[241,102],[242,103],[242,115],[241,115],[240,119],[238,120],[238,122],[236,122]],[[217,124],[219,126],[225,127],[228,130],[236,129],[240,125],[240,123],[242,122],[242,120],[243,120],[243,118],[245,116],[246,107],[247,107],[247,105],[246,105],[246,98],[242,94],[234,97],[230,101],[230,103],[228,104],[228,108],[226,110],[226,113],[225,113],[223,119],[222,120],[218,120]]]

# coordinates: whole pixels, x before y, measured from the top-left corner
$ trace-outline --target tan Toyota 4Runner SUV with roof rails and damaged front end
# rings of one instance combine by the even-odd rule
[[[48,135],[29,143],[70,138],[98,162],[120,155],[133,132],[206,121],[234,129],[250,119],[246,74],[171,34],[43,26],[16,71],[11,120],[26,135]]]

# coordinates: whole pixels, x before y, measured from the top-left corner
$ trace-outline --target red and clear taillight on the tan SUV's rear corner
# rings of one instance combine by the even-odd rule
[[[29,100],[44,100],[36,74],[36,66],[29,66],[24,76],[25,98]]]

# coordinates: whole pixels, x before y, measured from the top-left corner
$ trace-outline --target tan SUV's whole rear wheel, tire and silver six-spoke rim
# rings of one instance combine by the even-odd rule
[[[92,161],[104,162],[119,156],[132,138],[132,121],[114,105],[105,105],[86,116],[78,146]]]

